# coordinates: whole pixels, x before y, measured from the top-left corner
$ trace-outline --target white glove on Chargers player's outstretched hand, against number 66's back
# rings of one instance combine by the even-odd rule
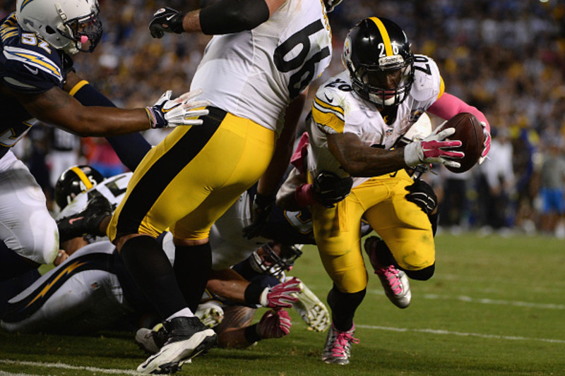
[[[202,120],[195,118],[208,115],[208,109],[204,107],[210,105],[210,102],[205,100],[191,102],[191,99],[201,94],[202,90],[198,89],[171,99],[172,91],[167,90],[157,103],[145,107],[151,128],[202,125]]]

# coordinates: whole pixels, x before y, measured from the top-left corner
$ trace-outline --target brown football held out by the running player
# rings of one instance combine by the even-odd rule
[[[460,140],[463,144],[460,147],[453,147],[453,150],[465,153],[462,159],[453,159],[461,164],[459,168],[446,166],[447,169],[456,174],[468,171],[479,161],[484,144],[484,133],[479,119],[468,112],[461,112],[446,121],[441,131],[446,128],[455,128],[455,133],[449,136],[448,140]]]

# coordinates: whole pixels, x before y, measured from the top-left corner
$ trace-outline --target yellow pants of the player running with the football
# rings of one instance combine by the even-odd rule
[[[432,225],[420,207],[405,199],[405,187],[412,183],[410,176],[400,170],[353,188],[333,208],[311,207],[323,266],[340,291],[355,293],[367,287],[359,236],[363,214],[400,267],[420,270],[434,264]]]

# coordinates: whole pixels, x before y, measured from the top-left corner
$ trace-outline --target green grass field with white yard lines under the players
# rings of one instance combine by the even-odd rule
[[[177,375],[565,375],[564,266],[565,241],[555,238],[440,235],[436,274],[411,281],[409,308],[390,303],[371,275],[350,365],[322,363],[326,333],[309,332],[293,311],[287,337],[213,349]],[[314,248],[292,274],[325,301],[331,282]],[[0,375],[133,375],[143,360],[127,332],[0,332]]]

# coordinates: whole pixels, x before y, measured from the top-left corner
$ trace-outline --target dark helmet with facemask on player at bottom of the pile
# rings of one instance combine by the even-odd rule
[[[249,262],[256,272],[278,278],[285,270],[292,269],[292,265],[301,255],[302,250],[295,245],[270,242],[252,253]]]

